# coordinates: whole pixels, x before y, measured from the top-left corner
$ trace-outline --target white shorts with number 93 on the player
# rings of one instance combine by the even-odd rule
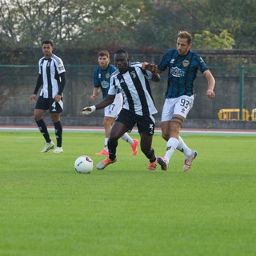
[[[162,107],[161,122],[170,121],[174,114],[181,115],[186,118],[189,114],[194,102],[194,95],[192,96],[180,96],[178,98],[166,98],[166,101]]]

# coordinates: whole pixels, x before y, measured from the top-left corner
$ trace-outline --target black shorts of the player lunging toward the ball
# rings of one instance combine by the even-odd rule
[[[122,122],[129,130],[133,130],[134,125],[137,124],[139,134],[154,134],[155,122],[153,115],[141,116],[122,109],[118,114],[116,122]]]

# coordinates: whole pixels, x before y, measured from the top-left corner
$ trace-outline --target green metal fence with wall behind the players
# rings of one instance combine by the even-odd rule
[[[94,88],[94,65],[66,65],[67,82],[64,89],[64,111],[62,116],[75,117],[84,106],[91,105],[90,95]],[[189,118],[218,119],[221,109],[256,108],[256,67],[253,66],[211,66],[216,79],[216,98],[206,98],[207,82],[202,74],[194,82],[195,101]],[[154,101],[161,117],[164,94],[166,92],[167,71],[162,73],[161,82],[151,83]],[[29,102],[30,94],[38,78],[38,66],[0,65],[0,116],[31,116],[34,103]],[[98,96],[96,102],[102,99]],[[96,103],[94,102],[94,103]],[[92,116],[101,117],[103,111]]]

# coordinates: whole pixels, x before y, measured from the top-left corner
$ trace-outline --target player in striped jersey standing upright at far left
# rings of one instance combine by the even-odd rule
[[[62,153],[62,123],[60,114],[63,109],[62,92],[66,83],[66,70],[61,58],[53,54],[54,45],[51,41],[42,42],[43,57],[39,59],[39,75],[34,93],[30,96],[30,102],[36,101],[38,90],[42,86],[40,96],[34,108],[34,120],[38,125],[39,131],[46,140],[46,146],[42,153],[54,149],[54,142],[50,139],[46,123],[43,116],[47,110],[54,123],[54,131],[57,139],[57,147],[54,153]]]

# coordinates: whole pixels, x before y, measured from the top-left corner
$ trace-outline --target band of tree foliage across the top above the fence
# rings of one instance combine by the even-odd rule
[[[0,0],[0,46],[24,50],[51,39],[67,50],[162,52],[188,30],[209,31],[198,48],[254,49],[255,11],[254,0]]]

